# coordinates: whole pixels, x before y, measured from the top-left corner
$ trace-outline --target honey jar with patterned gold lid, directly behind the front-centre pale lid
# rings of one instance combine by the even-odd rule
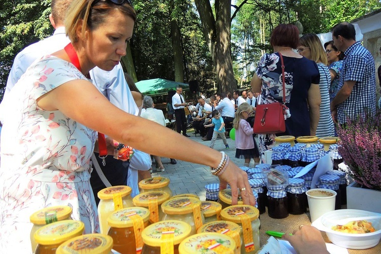
[[[167,200],[162,204],[164,216],[161,220],[181,220],[192,227],[192,234],[205,223],[201,213],[201,201],[192,197],[179,197]]]

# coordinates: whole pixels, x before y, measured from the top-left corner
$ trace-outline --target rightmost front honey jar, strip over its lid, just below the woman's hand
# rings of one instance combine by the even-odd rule
[[[221,211],[221,219],[241,227],[241,253],[256,253],[260,249],[259,210],[249,205],[229,206]]]

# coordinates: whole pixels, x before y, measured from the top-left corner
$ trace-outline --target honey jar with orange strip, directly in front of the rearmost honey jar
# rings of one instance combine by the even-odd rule
[[[163,217],[162,204],[169,200],[169,194],[161,190],[141,193],[133,198],[135,206],[141,206],[149,209],[149,220],[156,223]]]

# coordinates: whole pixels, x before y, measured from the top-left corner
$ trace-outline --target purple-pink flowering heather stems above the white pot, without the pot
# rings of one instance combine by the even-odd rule
[[[356,182],[381,190],[381,110],[375,115],[347,119],[345,129],[338,128],[339,153]]]

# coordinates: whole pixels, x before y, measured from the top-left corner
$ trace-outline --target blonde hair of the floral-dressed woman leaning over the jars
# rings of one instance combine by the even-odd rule
[[[136,13],[134,8],[125,1],[121,5],[116,5],[111,1],[100,1],[94,6],[91,6],[94,0],[76,0],[70,5],[65,19],[66,35],[72,43],[78,42],[77,27],[81,28],[81,35],[84,37],[87,27],[90,30],[104,22],[106,17],[110,16],[113,10],[119,10],[122,14],[130,16],[134,22],[136,21]]]

